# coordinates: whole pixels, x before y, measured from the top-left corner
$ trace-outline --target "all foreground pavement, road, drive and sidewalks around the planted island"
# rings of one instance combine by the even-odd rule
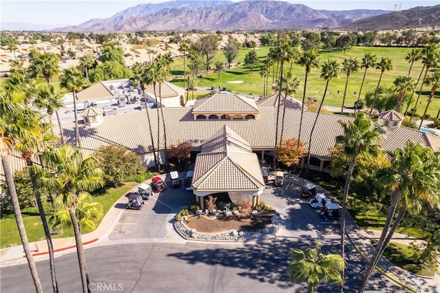
[[[161,177],[169,181],[169,175]],[[156,193],[139,211],[126,210],[123,196],[94,232],[83,235],[91,279],[96,283],[122,283],[122,292],[190,292],[194,290],[187,287],[191,283],[203,292],[304,292],[303,285],[293,285],[286,279],[288,250],[314,246],[314,241],[320,239],[324,252],[338,253],[340,225],[338,221],[324,221],[317,210],[309,206],[300,196],[303,184],[305,180],[290,175],[283,187],[267,186],[261,200],[276,208],[283,224],[273,239],[242,243],[182,239],[174,230],[174,216],[194,200],[183,188]],[[136,190],[133,186],[132,191]],[[323,189],[318,191],[329,195]],[[347,219],[347,235],[346,292],[354,292],[367,265],[354,248],[371,257],[374,249],[371,240],[379,235],[359,228],[351,217]],[[406,235],[396,234],[393,241],[420,245],[418,239]],[[53,239],[53,242],[57,274],[60,270],[58,279],[65,286],[61,292],[75,292],[79,273],[70,272],[77,266],[74,237]],[[42,268],[39,273],[43,283],[50,284],[47,261],[42,261],[47,259],[46,242],[31,243],[31,248],[38,250],[34,252],[34,259]],[[26,285],[32,286],[25,263],[21,246],[1,250],[1,292],[22,292]],[[435,279],[416,276],[385,258],[379,267],[416,292],[439,292],[438,276]],[[17,276],[21,276],[23,282],[17,283]],[[68,284],[63,279],[69,280]],[[336,287],[322,288],[334,292]],[[367,292],[408,290],[375,272]]]

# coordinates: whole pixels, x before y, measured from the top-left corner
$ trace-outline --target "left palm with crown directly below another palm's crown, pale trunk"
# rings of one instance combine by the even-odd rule
[[[60,129],[61,143],[64,144],[63,127],[61,127],[61,118],[60,113],[58,112],[58,109],[65,106],[63,95],[57,94],[52,85],[45,85],[36,90],[36,97],[32,103],[39,109],[46,109],[47,115],[49,115],[51,120],[55,111],[56,120],[58,120],[58,127]]]

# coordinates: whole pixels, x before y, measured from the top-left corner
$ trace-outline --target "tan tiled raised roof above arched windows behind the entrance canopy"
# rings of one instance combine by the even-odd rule
[[[258,113],[259,107],[253,98],[236,94],[214,94],[199,98],[195,102],[192,113]]]

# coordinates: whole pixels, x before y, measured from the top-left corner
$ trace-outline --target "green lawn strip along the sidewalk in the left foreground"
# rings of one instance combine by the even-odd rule
[[[101,194],[94,195],[94,201],[102,204],[104,210],[104,215],[113,206],[122,195],[126,194],[133,186],[136,186],[135,182],[127,182],[119,188],[108,188],[107,191]],[[28,234],[28,239],[30,242],[39,241],[45,239],[43,224],[41,224],[41,219],[38,213],[33,213],[32,215],[23,215],[23,221],[25,223],[26,233]],[[96,221],[96,226],[100,224],[101,220]],[[0,248],[5,248],[10,246],[17,246],[21,244],[19,231],[17,230],[17,224],[15,219],[0,219]],[[88,228],[82,230],[83,234],[90,232]],[[74,232],[72,228],[65,228],[63,233],[58,235],[52,235],[52,238],[64,238],[72,237]]]

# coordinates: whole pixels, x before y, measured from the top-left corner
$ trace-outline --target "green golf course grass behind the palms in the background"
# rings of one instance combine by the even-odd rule
[[[358,58],[359,61],[362,61],[362,57],[366,52],[373,52],[377,56],[378,59],[389,56],[393,60],[394,69],[391,72],[384,72],[382,76],[381,85],[393,85],[393,80],[399,75],[407,75],[409,69],[409,63],[405,60],[406,54],[410,52],[412,48],[406,47],[353,47],[351,50],[347,50],[345,54],[341,52],[329,52],[329,53],[320,53],[319,58],[321,64],[328,59],[335,59],[339,63],[342,63],[344,58],[353,57]],[[244,61],[244,56],[250,51],[240,50],[239,57],[236,58],[235,62]],[[261,61],[267,56],[267,52],[269,51],[268,47],[263,47],[257,49],[257,55],[261,58]],[[214,61],[221,60],[225,61],[225,57],[223,53],[219,52],[215,57]],[[188,64],[188,59],[186,60]],[[171,72],[175,75],[183,74],[183,59],[179,59],[175,61],[171,66]],[[214,62],[213,62],[214,63]],[[212,64],[213,64],[212,63]],[[285,70],[289,70],[290,65],[285,65]],[[419,74],[423,64],[421,61],[417,61],[412,66],[411,76],[415,80],[419,78]],[[300,65],[294,65],[292,67],[292,72],[295,76],[298,76],[302,85],[298,89],[296,93],[296,98],[303,98],[303,83],[305,78],[305,69]],[[347,97],[345,101],[345,105],[348,107],[353,106],[353,103],[358,98],[360,84],[362,83],[362,77],[364,75],[363,69],[359,72],[352,72],[349,78],[349,85],[347,87]],[[370,68],[366,74],[366,80],[364,82],[364,87],[362,89],[362,96],[367,91],[375,90],[377,86],[377,81],[379,80],[380,70]],[[244,67],[243,65],[239,65],[238,67],[232,69],[225,69],[218,78],[218,74],[206,74],[203,78],[198,78],[198,87],[206,87],[209,88],[211,85],[216,85],[216,87],[227,87],[229,91],[239,94],[254,94],[256,96],[263,94],[263,78],[259,74],[259,69],[254,70],[254,72],[250,72],[250,69]],[[228,81],[233,80],[243,80],[244,83],[228,83]],[[336,106],[340,107],[342,105],[342,97],[344,93],[344,86],[346,82],[346,75],[344,72],[341,72],[340,78],[336,78],[331,80],[329,83],[329,89],[327,91],[327,95],[325,97],[325,105],[328,106]],[[182,86],[183,80],[176,79],[173,81],[176,85]],[[272,76],[269,78],[269,83],[272,83]],[[312,69],[309,73],[309,77],[307,79],[307,96],[311,96],[317,98],[318,101],[322,98],[323,91],[325,89],[325,80],[320,78],[320,69]],[[419,89],[419,87],[417,87]],[[338,94],[338,90],[340,91]],[[426,102],[428,100],[428,94],[430,87],[428,85],[423,86],[422,95],[419,100],[419,106],[417,107],[417,113],[422,114],[423,110],[426,106]],[[355,94],[356,93],[356,94]],[[415,98],[417,98],[417,94],[413,97],[413,103],[415,102]],[[437,95],[434,98],[434,101],[430,105],[430,109],[428,109],[428,113],[431,116],[437,116],[437,111],[440,107],[440,97]]]

